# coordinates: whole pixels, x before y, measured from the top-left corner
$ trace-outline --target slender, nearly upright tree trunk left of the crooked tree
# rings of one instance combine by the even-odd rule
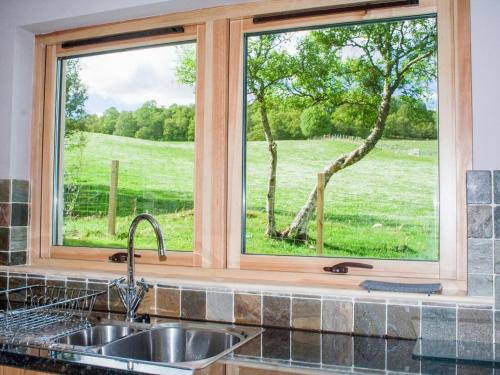
[[[264,96],[259,96],[257,100],[260,103],[260,117],[264,127],[266,136],[267,148],[269,150],[269,178],[267,182],[266,194],[266,235],[271,238],[277,236],[276,232],[276,217],[275,217],[275,201],[276,201],[276,168],[278,164],[278,145],[274,141],[269,118],[267,116],[267,106]]]

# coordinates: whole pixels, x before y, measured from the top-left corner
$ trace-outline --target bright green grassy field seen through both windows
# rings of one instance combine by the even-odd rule
[[[276,211],[285,227],[304,203],[316,174],[355,140],[278,141]],[[325,192],[327,256],[437,259],[437,143],[381,141],[364,160],[336,174]],[[107,234],[111,160],[120,161],[118,233]],[[158,217],[169,249],[192,248],[193,159],[190,142],[154,142],[87,134],[82,152],[66,151],[64,244],[124,247],[134,213]],[[247,150],[246,251],[314,255],[307,243],[269,240],[265,230],[268,155],[265,142]],[[69,202],[69,203],[68,203]],[[139,247],[154,247],[147,225]]]

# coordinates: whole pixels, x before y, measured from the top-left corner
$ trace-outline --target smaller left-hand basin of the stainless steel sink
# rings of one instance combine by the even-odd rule
[[[76,346],[101,346],[136,332],[119,325],[98,325],[71,333],[56,340],[58,344]]]

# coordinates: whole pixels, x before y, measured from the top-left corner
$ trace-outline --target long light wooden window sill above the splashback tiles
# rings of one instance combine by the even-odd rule
[[[95,263],[100,263],[96,267]],[[98,271],[96,271],[98,269]],[[1,271],[45,274],[50,276],[82,278],[118,278],[126,274],[125,264],[78,262],[61,259],[39,259],[31,266],[0,267]],[[168,276],[167,276],[168,275]],[[368,292],[359,287],[359,277],[338,275],[307,275],[284,272],[240,271],[229,269],[203,269],[136,265],[136,276],[158,284],[178,285],[183,288],[225,288],[243,291],[262,291],[286,294],[321,295],[325,298],[357,298],[405,303],[433,302],[494,307],[494,297],[470,297],[463,290],[446,289],[443,294],[415,294],[396,292]],[[295,279],[292,277],[295,276]],[[277,280],[280,281],[277,281]],[[366,279],[364,277],[363,279]],[[408,282],[418,280],[405,280]],[[420,282],[425,282],[420,280]],[[428,282],[428,280],[427,280]]]

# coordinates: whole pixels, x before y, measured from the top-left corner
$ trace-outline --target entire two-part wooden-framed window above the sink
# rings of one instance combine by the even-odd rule
[[[33,263],[122,270],[105,262],[125,247],[132,216],[148,211],[167,247],[181,250],[161,265],[154,252],[141,253],[139,270],[157,276],[164,265],[195,266],[169,271],[263,281],[280,271],[280,280],[311,285],[439,279],[466,290],[468,2],[388,3],[340,11],[337,1],[332,9],[292,1],[277,16],[282,4],[251,2],[37,36]],[[373,149],[328,180],[325,167],[374,129],[384,56],[366,43],[370,30],[391,27],[398,33],[387,48],[400,61],[422,50],[425,58],[398,84],[391,76]],[[94,64],[101,76],[91,74]],[[133,90],[131,77],[140,81]],[[322,179],[307,231],[285,236]],[[154,245],[149,234],[138,240]],[[353,257],[373,269],[323,272]]]

